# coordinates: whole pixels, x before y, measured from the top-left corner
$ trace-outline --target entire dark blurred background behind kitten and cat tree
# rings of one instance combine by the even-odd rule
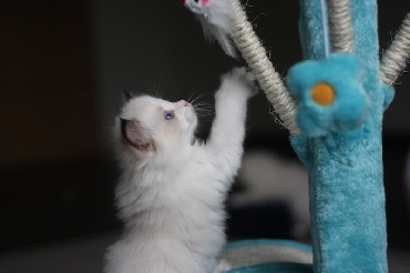
[[[298,1],[249,0],[247,11],[285,77],[301,60]],[[408,0],[379,0],[381,49],[408,11]],[[219,75],[237,65],[244,62],[205,42],[178,0],[0,0],[0,272],[101,272],[104,249],[121,229],[111,129],[123,90],[170,101],[193,92],[212,98]],[[408,73],[396,91],[383,120],[383,161],[389,250],[403,264],[410,252]],[[249,102],[247,169],[229,201],[228,234],[308,242],[306,173],[270,111],[262,93]],[[201,138],[211,121],[202,122]],[[277,172],[258,178],[247,171],[253,164]],[[246,194],[255,180],[259,191]],[[273,194],[258,202],[266,190]],[[75,259],[90,267],[66,266]]]

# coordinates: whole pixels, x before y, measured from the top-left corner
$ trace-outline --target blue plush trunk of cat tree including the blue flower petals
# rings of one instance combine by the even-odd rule
[[[290,142],[310,179],[314,271],[387,272],[381,120],[392,89],[379,79],[377,2],[350,1],[355,55],[324,60],[319,1],[300,0],[304,57],[314,61],[287,78],[303,130]],[[312,101],[319,82],[334,88],[331,105]]]

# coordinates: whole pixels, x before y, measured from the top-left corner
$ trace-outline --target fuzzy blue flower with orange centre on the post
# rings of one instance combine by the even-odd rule
[[[360,127],[370,108],[362,87],[363,75],[361,61],[347,53],[294,65],[287,84],[299,103],[296,122],[300,130],[309,136],[319,136]]]

